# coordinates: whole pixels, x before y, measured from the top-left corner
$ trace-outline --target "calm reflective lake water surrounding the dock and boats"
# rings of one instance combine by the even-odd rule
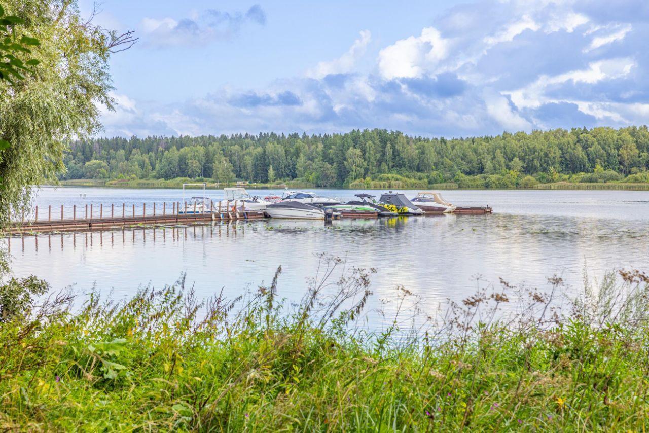
[[[255,190],[254,194],[267,195]],[[273,192],[278,193],[278,192]],[[321,190],[351,198],[354,191]],[[416,192],[406,192],[413,197]],[[187,193],[201,195],[202,193]],[[377,192],[380,194],[380,192]],[[217,199],[220,192],[206,195]],[[601,278],[622,267],[649,270],[649,192],[448,191],[459,206],[493,206],[486,216],[426,216],[333,221],[263,220],[180,228],[118,229],[93,233],[14,237],[17,276],[37,275],[54,288],[93,284],[125,297],[140,284],[162,286],[181,273],[201,297],[224,288],[234,297],[270,282],[277,266],[280,296],[298,301],[306,278],[315,275],[318,253],[345,256],[350,266],[374,267],[372,288],[394,299],[401,284],[421,296],[426,308],[447,298],[463,299],[476,288],[475,275],[497,282],[545,288],[559,273],[578,288],[584,269]],[[43,189],[36,204],[83,206],[182,201],[178,190]],[[60,211],[59,211],[60,212]],[[391,304],[388,304],[388,310]]]

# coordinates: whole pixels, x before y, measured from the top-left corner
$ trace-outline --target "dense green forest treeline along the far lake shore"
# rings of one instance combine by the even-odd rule
[[[648,182],[649,129],[563,129],[475,138],[346,134],[100,138],[71,144],[62,179],[300,179],[316,186],[395,175],[430,184],[511,188],[574,180]],[[358,184],[358,182],[356,182]]]

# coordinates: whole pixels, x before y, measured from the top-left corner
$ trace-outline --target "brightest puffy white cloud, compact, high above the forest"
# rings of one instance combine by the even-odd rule
[[[434,27],[426,27],[421,36],[398,40],[382,49],[378,68],[385,79],[421,77],[447,58],[450,41]]]

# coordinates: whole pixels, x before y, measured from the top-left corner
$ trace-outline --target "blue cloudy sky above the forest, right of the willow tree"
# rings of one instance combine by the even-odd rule
[[[103,0],[93,22],[140,37],[102,136],[649,123],[646,0]]]

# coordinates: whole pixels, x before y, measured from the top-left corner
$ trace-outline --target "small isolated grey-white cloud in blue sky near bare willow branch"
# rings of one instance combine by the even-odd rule
[[[246,12],[208,9],[192,18],[143,18],[140,27],[147,44],[165,47],[230,38],[248,23],[265,25],[262,6],[252,5]]]

